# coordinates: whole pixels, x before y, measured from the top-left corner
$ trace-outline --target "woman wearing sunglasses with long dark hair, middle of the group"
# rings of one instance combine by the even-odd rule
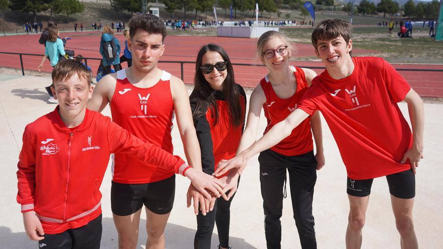
[[[237,152],[245,124],[246,95],[243,88],[235,83],[228,54],[216,44],[207,44],[200,48],[194,84],[194,91],[190,96],[192,117],[200,143],[203,172],[211,175],[221,159],[231,159]],[[220,180],[226,181],[227,175],[220,176]],[[230,206],[233,199],[231,197],[237,190],[238,178],[235,181],[235,187],[227,192],[228,201],[213,198],[210,204],[213,205],[212,210],[200,206],[194,248],[210,248],[214,223],[218,230],[218,248],[231,248]]]

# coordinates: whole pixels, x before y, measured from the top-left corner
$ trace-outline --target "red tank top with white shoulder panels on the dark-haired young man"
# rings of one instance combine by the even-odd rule
[[[111,100],[112,121],[143,141],[150,141],[173,152],[172,120],[174,103],[170,86],[171,74],[163,71],[156,85],[138,88],[126,78],[126,71],[117,72],[117,83]],[[146,164],[135,157],[115,153],[113,181],[122,184],[157,182],[174,175],[173,171]]]

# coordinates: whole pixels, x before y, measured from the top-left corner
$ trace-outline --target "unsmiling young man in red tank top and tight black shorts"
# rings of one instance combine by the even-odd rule
[[[88,103],[102,111],[109,103],[113,120],[142,140],[172,152],[172,119],[177,116],[185,154],[194,169],[201,171],[200,147],[189,105],[188,92],[179,78],[157,67],[165,45],[166,27],[154,15],[138,15],[129,21],[128,48],[132,66],[100,80]],[[131,168],[127,167],[131,165]],[[120,248],[135,248],[141,208],[146,207],[147,248],[164,248],[164,230],[172,210],[175,179],[157,165],[144,165],[136,158],[115,154],[111,208]],[[130,169],[130,170],[129,170]],[[134,170],[136,169],[136,170]],[[210,199],[208,193],[205,198]],[[205,214],[208,201],[193,185],[188,203],[194,198]],[[226,197],[226,196],[225,196]]]

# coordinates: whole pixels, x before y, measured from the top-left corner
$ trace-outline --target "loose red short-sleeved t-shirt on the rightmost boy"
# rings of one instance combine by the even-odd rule
[[[412,133],[397,102],[411,87],[383,58],[353,57],[354,71],[333,79],[325,70],[314,78],[299,107],[320,110],[337,142],[347,175],[354,180],[391,175],[411,168],[401,164]]]

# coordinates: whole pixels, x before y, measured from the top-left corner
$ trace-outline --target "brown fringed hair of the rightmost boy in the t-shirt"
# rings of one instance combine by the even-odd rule
[[[318,40],[328,41],[339,36],[343,37],[346,43],[349,42],[351,39],[349,23],[341,19],[326,19],[321,21],[312,32],[312,45],[317,50]]]

